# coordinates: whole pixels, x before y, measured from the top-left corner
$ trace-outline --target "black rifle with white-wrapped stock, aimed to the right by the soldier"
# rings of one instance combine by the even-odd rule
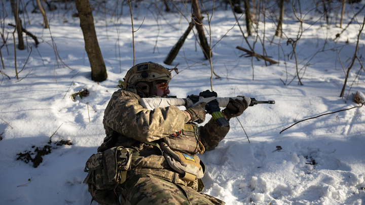
[[[209,90],[203,91],[197,95],[190,95],[187,98],[176,98],[175,96],[167,97],[167,98],[141,98],[139,103],[149,110],[153,110],[158,107],[168,107],[171,105],[174,106],[185,106],[186,108],[193,107],[200,102],[206,102],[205,110],[207,113],[211,114],[214,120],[221,127],[227,127],[229,125],[228,120],[224,117],[221,112],[220,107],[226,107],[230,101],[230,99],[239,99],[243,100],[243,96],[237,97],[226,97],[220,98],[217,97],[216,92],[210,92]],[[248,106],[253,106],[257,104],[275,104],[274,100],[269,101],[257,101],[255,98],[250,98],[251,103]]]

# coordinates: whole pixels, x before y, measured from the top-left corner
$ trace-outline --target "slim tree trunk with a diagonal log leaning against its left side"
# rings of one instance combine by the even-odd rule
[[[203,50],[203,54],[204,54],[204,57],[205,59],[209,59],[210,57],[210,48],[209,48],[209,45],[208,45],[208,42],[207,42],[207,39],[205,37],[205,34],[204,34],[204,27],[203,27],[203,17],[201,16],[201,13],[200,13],[200,7],[199,7],[199,3],[198,3],[198,0],[192,0],[192,8],[193,8],[193,17],[195,17],[195,20],[196,20],[196,24],[195,24],[195,28],[197,29],[198,31],[198,34],[199,34],[199,40],[200,40],[200,46]]]

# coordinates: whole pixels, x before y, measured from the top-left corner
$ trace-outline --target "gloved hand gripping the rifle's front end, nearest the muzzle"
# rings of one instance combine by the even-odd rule
[[[245,109],[247,109],[248,105],[251,103],[251,99],[247,97],[243,97],[243,100],[239,99],[230,99],[227,107],[223,110],[223,113],[226,115],[227,119],[232,117],[237,117],[243,113]]]

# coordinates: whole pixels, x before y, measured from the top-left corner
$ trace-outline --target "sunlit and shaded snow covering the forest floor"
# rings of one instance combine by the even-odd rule
[[[188,27],[186,19],[190,19],[184,5],[175,3],[181,13],[164,12],[162,4],[156,9],[154,1],[147,0],[132,7],[134,29],[142,24],[134,33],[136,63],[164,65],[166,55]],[[346,5],[343,27],[364,4]],[[86,177],[84,166],[104,138],[102,118],[107,102],[118,90],[118,80],[133,65],[131,20],[126,3],[115,7],[108,1],[106,9],[95,7],[95,27],[108,73],[107,80],[97,83],[91,80],[79,20],[71,17],[76,8],[71,3],[67,6],[67,11],[47,11],[48,30],[41,25],[42,15],[30,13],[28,5],[26,18],[30,20],[23,22],[40,44],[36,48],[27,37],[27,49],[16,51],[18,71],[24,66],[17,80],[11,34],[14,28],[7,26],[13,19],[10,3],[5,2],[4,33],[10,32],[10,37],[1,49],[5,66],[1,71],[10,79],[4,74],[0,77],[0,204],[90,204],[87,185],[82,183]],[[239,121],[231,119],[226,138],[200,156],[207,169],[203,192],[227,204],[365,204],[364,107],[305,120],[279,134],[299,120],[359,106],[352,101],[353,93],[365,99],[361,68],[365,64],[364,31],[360,35],[359,60],[350,71],[344,98],[339,97],[345,71],[354,56],[363,11],[335,39],[343,30],[336,15],[341,11],[339,3],[333,3],[330,24],[326,24],[320,10],[309,8],[314,6],[311,1],[302,1],[301,9],[307,15],[296,46],[301,86],[296,77],[296,60],[291,57],[293,48],[286,45],[287,38],[297,39],[300,25],[290,6],[286,7],[283,38],[273,38],[276,21],[269,14],[275,7],[270,6],[265,27],[263,17],[260,19],[260,39],[247,37],[259,54],[265,39],[267,56],[279,61],[270,66],[241,56],[245,53],[236,46],[248,46],[232,12],[225,10],[223,3],[215,6],[210,22],[212,65],[221,78],[213,77],[213,90],[219,97],[244,95],[275,100],[276,104],[255,105],[239,116]],[[62,4],[58,7],[64,8]],[[112,16],[121,8],[122,14]],[[1,16],[5,11],[0,11]],[[208,17],[203,15],[207,24]],[[243,20],[240,24],[245,30]],[[52,47],[50,32],[59,56]],[[180,73],[170,83],[171,95],[185,98],[210,90],[209,62],[193,33],[173,64],[164,66],[176,65]],[[89,96],[72,101],[72,94],[85,89]],[[72,145],[56,145],[61,140]],[[38,167],[16,160],[17,154],[35,153],[37,147],[46,145],[51,146],[51,153],[42,156]]]

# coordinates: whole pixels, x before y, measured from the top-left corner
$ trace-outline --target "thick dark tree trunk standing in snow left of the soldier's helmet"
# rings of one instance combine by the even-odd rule
[[[80,26],[84,34],[85,50],[91,66],[91,79],[103,81],[107,78],[106,67],[96,37],[94,18],[88,0],[76,0]]]

